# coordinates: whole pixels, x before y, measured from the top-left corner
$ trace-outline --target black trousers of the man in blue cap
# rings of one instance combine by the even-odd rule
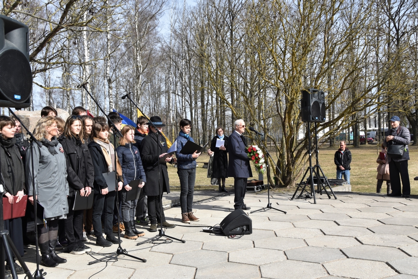
[[[400,175],[400,178],[399,178]],[[411,193],[411,185],[409,182],[408,160],[389,162],[390,184],[392,186],[392,194],[400,195],[400,181],[402,180],[402,194],[409,195]]]

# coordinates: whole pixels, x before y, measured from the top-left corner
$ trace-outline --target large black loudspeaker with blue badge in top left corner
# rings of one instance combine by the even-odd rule
[[[32,93],[29,28],[0,15],[0,107],[27,108]]]

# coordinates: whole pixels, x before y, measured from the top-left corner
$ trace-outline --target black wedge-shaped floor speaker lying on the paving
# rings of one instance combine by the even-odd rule
[[[252,221],[242,209],[235,209],[219,224],[224,235],[252,234]]]

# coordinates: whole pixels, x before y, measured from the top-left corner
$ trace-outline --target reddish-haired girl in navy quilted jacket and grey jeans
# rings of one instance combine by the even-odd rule
[[[122,138],[119,141],[119,147],[116,148],[116,154],[117,158],[119,158],[120,165],[122,166],[122,216],[123,223],[125,224],[124,237],[127,239],[136,239],[139,236],[145,235],[145,233],[140,232],[135,228],[135,208],[138,199],[128,201],[127,192],[133,190],[129,183],[133,180],[140,179],[142,179],[143,182],[138,185],[140,188],[138,190],[142,192],[142,187],[145,185],[146,177],[139,150],[135,145],[133,145],[135,143],[135,128],[130,125],[126,125],[120,132],[122,134]]]

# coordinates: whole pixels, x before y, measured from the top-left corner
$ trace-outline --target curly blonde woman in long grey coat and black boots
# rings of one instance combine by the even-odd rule
[[[55,253],[58,220],[65,219],[68,213],[69,186],[66,159],[64,149],[56,139],[58,128],[53,116],[39,119],[35,131],[35,138],[41,142],[41,147],[36,143],[33,144],[36,200],[38,201],[38,212],[43,210],[43,220],[36,217],[39,250],[42,254],[41,264],[54,267],[67,261]],[[28,148],[25,171],[28,199],[33,204],[31,152],[32,149]]]

